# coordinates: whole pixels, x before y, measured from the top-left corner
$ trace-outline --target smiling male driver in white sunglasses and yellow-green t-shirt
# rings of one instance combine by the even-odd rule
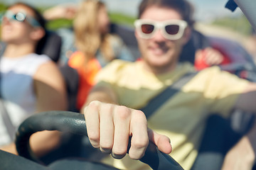
[[[178,64],[191,33],[189,13],[190,5],[184,0],[142,1],[139,20],[135,22],[142,61],[112,62],[100,72],[82,111],[90,142],[121,159],[132,136],[129,157],[107,158],[104,162],[119,169],[149,169],[132,159],[141,158],[151,140],[165,153],[173,147],[171,156],[183,169],[191,169],[210,113],[227,117],[232,108],[256,111],[256,85],[212,67],[196,74],[146,122],[147,113],[139,109],[183,75],[193,72],[190,64]],[[230,149],[223,169],[252,168],[254,132],[255,129]],[[169,139],[159,133],[171,139],[172,147]]]

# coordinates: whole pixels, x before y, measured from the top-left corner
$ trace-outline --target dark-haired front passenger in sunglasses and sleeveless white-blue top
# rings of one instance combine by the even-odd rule
[[[65,110],[65,84],[58,67],[46,55],[36,55],[45,35],[45,21],[32,6],[16,3],[7,8],[1,23],[6,49],[0,60],[0,149],[16,153],[14,133],[29,115]],[[9,121],[7,121],[9,119]],[[33,151],[42,156],[56,147],[58,132],[41,132],[31,138]]]

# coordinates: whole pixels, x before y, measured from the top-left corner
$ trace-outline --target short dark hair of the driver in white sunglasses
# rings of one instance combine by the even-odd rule
[[[146,8],[149,8],[150,6],[173,8],[181,13],[183,20],[188,23],[188,26],[193,26],[194,8],[192,4],[186,0],[142,0],[142,3],[139,5],[139,18],[142,16],[142,13],[144,13]]]

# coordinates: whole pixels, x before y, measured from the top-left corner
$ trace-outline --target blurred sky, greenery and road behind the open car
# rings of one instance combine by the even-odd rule
[[[0,11],[4,11],[8,4],[16,0],[1,0]],[[40,11],[45,11],[58,4],[78,4],[80,0],[21,0],[36,6]],[[113,23],[133,27],[137,18],[137,7],[141,0],[102,0],[110,11],[110,19]],[[196,29],[207,35],[215,35],[238,41],[255,58],[255,37],[240,8],[234,12],[225,8],[228,0],[188,0],[195,7]],[[50,30],[62,27],[70,27],[72,20],[58,19],[48,22]]]

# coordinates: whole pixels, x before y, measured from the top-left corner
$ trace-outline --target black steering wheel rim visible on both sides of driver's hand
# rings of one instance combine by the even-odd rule
[[[35,132],[43,130],[58,130],[61,132],[71,132],[76,135],[87,135],[84,115],[70,111],[48,111],[42,112],[21,123],[16,132],[16,149],[21,157],[41,163],[33,154],[29,145],[29,139]],[[164,154],[150,142],[141,162],[149,164],[152,169],[183,169],[169,154]]]

